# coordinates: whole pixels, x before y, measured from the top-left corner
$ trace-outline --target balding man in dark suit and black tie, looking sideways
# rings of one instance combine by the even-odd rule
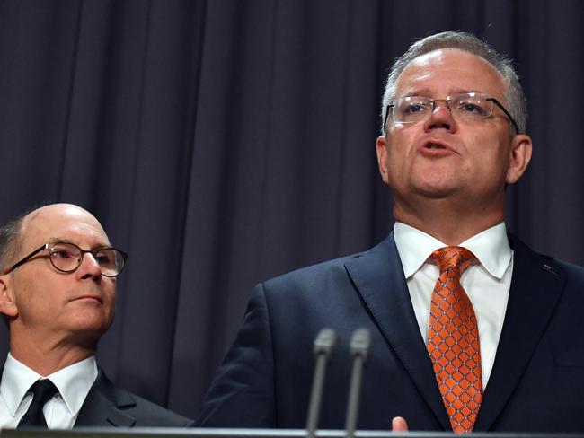
[[[44,206],[0,229],[0,312],[10,329],[0,427],[190,425],[114,387],[95,362],[126,257],[79,206]]]

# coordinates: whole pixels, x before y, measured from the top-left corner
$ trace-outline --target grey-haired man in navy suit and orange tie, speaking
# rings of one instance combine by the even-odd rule
[[[584,432],[584,269],[503,223],[532,147],[509,60],[463,32],[421,39],[394,63],[383,120],[394,231],[258,285],[198,424],[304,427],[313,339],[331,327],[319,425],[343,428],[350,335],[364,327],[360,428]]]

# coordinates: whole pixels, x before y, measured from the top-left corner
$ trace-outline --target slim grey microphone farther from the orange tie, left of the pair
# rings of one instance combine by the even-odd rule
[[[308,438],[314,438],[318,425],[318,416],[321,410],[321,399],[323,397],[324,375],[326,373],[326,362],[331,355],[332,348],[337,341],[337,333],[333,329],[321,329],[314,338],[314,364],[313,389],[310,394],[308,405],[308,415],[306,419],[306,431]]]

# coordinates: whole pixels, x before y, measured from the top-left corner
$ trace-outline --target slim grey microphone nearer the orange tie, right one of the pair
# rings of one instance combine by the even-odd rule
[[[347,438],[354,438],[358,417],[358,401],[361,392],[361,376],[363,365],[367,362],[371,333],[367,329],[357,329],[350,339],[350,355],[353,358],[353,369],[350,376],[349,401],[347,403],[347,422],[345,429]]]

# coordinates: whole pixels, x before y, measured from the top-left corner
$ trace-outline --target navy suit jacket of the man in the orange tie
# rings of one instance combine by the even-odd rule
[[[509,302],[474,430],[584,432],[584,269],[509,239]],[[323,327],[339,340],[319,427],[344,427],[350,335],[365,327],[373,343],[358,427],[386,430],[403,416],[411,430],[451,430],[392,234],[367,252],[256,286],[198,425],[305,427],[313,340]]]

